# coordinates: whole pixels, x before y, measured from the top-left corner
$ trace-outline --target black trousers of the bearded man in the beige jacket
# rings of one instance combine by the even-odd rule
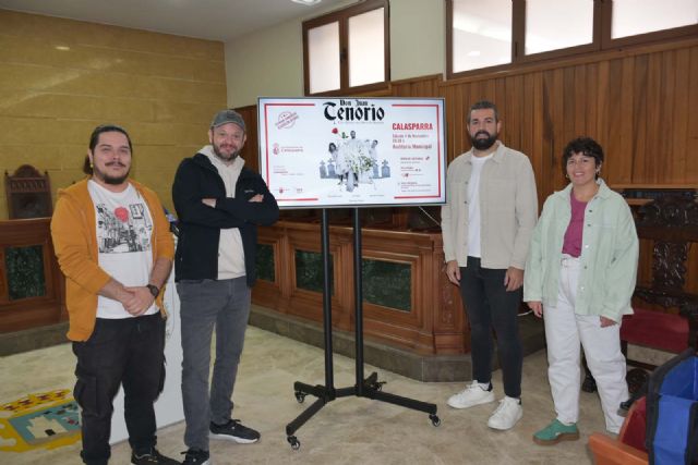
[[[480,258],[468,257],[468,266],[460,268],[460,295],[470,321],[472,378],[482,383],[492,379],[494,328],[504,393],[520,397],[524,351],[517,316],[522,291],[507,292],[505,273],[505,269],[482,268]]]

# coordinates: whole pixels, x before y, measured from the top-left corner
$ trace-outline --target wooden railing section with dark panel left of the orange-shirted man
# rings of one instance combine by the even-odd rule
[[[0,221],[0,333],[68,319],[50,221]]]

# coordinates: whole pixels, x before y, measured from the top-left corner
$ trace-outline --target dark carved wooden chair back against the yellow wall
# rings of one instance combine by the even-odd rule
[[[11,220],[45,218],[52,215],[51,183],[31,164],[23,164],[10,175],[4,172],[8,213]]]

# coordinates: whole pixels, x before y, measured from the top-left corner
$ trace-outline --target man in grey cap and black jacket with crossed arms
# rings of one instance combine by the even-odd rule
[[[245,139],[238,112],[216,113],[210,144],[182,160],[172,185],[180,221],[174,279],[181,302],[188,465],[209,463],[209,436],[237,443],[260,439],[257,431],[231,419],[231,396],[256,279],[257,225],[273,224],[279,209],[264,180],[244,168],[240,150]]]

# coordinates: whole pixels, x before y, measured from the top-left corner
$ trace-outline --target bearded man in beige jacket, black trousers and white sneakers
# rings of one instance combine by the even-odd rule
[[[528,157],[497,139],[502,121],[494,103],[474,103],[467,127],[472,148],[448,167],[442,234],[446,274],[460,287],[470,322],[472,382],[452,395],[448,405],[468,408],[494,402],[494,329],[505,395],[488,426],[506,430],[524,414],[517,315],[538,218],[535,180]]]

